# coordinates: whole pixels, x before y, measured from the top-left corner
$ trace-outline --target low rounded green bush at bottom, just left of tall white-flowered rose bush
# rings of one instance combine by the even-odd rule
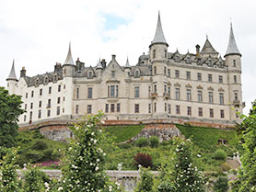
[[[45,192],[50,188],[50,178],[37,167],[29,166],[24,172],[24,192]]]

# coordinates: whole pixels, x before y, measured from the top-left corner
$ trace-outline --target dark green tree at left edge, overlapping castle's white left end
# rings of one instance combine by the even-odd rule
[[[0,87],[0,146],[15,145],[18,116],[25,112],[21,104],[21,96],[8,95],[8,91]]]

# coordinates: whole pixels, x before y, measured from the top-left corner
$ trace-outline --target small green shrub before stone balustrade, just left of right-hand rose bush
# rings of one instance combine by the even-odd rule
[[[152,191],[154,185],[153,174],[149,172],[149,169],[140,168],[140,180],[135,188],[135,192]]]

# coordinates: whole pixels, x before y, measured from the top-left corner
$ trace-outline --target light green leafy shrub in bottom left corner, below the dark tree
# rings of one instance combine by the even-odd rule
[[[17,149],[0,147],[0,191],[19,191],[16,163]]]

